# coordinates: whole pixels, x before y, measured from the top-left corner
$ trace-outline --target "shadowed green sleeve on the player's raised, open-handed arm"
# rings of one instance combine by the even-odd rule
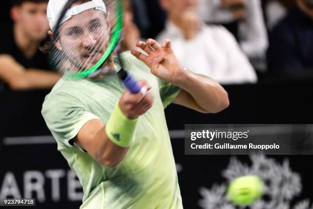
[[[164,80],[158,78],[160,96],[163,103],[164,109],[172,103],[172,101],[180,93],[181,88],[172,85],[171,83],[165,82]]]

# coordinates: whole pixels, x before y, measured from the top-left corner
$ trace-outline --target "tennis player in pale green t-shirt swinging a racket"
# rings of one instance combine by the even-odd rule
[[[48,5],[51,28],[58,1],[63,0],[50,0]],[[94,12],[88,10],[79,22],[74,15],[62,28],[83,31]],[[71,53],[80,53],[81,59],[96,56],[87,51],[97,39],[85,35],[72,41]],[[137,47],[147,54],[131,51],[121,56],[125,70],[148,88],[146,94],[125,89],[116,74],[118,61],[109,59],[103,68],[111,71],[92,78],[63,77],[44,100],[42,115],[82,184],[80,208],[183,208],[164,109],[173,102],[217,113],[229,105],[227,92],[216,81],[181,66],[170,40],[159,45],[148,39]]]

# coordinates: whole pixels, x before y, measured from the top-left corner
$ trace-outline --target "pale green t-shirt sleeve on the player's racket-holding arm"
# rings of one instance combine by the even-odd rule
[[[41,114],[58,144],[72,147],[72,139],[84,124],[92,119],[100,119],[87,110],[76,98],[67,94],[47,96]]]

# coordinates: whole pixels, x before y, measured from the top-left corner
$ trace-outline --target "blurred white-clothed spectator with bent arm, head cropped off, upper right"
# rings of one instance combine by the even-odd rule
[[[238,22],[238,41],[256,69],[264,70],[269,45],[260,0],[199,0],[200,17],[206,23]]]

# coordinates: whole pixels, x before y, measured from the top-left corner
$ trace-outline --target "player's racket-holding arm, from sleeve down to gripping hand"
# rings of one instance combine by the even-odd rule
[[[146,85],[145,81],[141,80],[139,81],[139,84],[150,90],[150,87]],[[122,119],[117,118],[119,126],[120,124],[123,124],[125,118],[131,122],[135,122],[133,120],[136,120],[140,115],[145,114],[152,107],[152,104],[153,97],[151,93],[147,92],[145,95],[142,95],[141,93],[132,94],[128,90],[125,90],[118,103],[118,107],[123,114]],[[114,117],[114,114],[115,111],[113,112],[113,115],[110,116],[110,119]],[[127,147],[121,147],[107,136],[106,131],[110,119],[107,124],[102,123],[99,119],[86,122],[74,138],[74,142],[77,143],[80,148],[86,150],[101,164],[114,169],[124,159],[131,144],[127,145]],[[129,126],[125,127],[125,130],[129,128]],[[118,132],[118,130],[115,131]],[[127,130],[127,132],[131,131],[133,130]],[[120,136],[120,140],[123,140],[123,134],[120,134]]]

